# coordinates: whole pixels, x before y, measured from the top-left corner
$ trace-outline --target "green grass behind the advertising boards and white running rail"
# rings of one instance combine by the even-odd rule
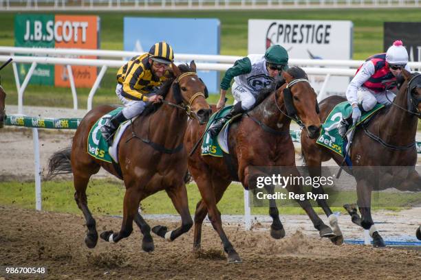
[[[58,14],[57,12],[56,14]],[[83,12],[77,12],[81,14]],[[65,12],[72,14],[72,12]],[[347,10],[254,10],[245,11],[168,11],[168,12],[99,12],[101,19],[101,49],[123,48],[123,18],[124,16],[154,16],[175,18],[217,18],[221,21],[221,54],[247,55],[248,19],[321,19],[348,20],[354,23],[354,59],[365,59],[371,54],[383,51],[383,23],[385,21],[400,21],[397,14],[404,14],[405,21],[419,21],[419,9],[347,9]],[[14,13],[0,13],[0,45],[14,45]],[[14,85],[12,67],[3,69],[3,87],[8,92],[7,104],[17,104],[17,91]],[[116,69],[109,69],[101,82],[100,89],[94,97],[94,106],[100,104],[119,104],[115,96]],[[86,108],[89,89],[77,89],[80,108]],[[210,103],[215,104],[217,97],[210,97]],[[69,89],[54,86],[30,85],[25,91],[25,105],[34,106],[72,106],[72,95]]]

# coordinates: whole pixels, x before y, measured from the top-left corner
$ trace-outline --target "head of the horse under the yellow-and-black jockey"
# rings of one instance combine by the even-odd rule
[[[206,124],[212,110],[206,102],[208,89],[197,76],[194,60],[190,62],[189,67],[187,65],[177,67],[174,64],[171,67],[175,75],[172,85],[175,102],[185,108],[189,117],[197,119],[200,124]]]

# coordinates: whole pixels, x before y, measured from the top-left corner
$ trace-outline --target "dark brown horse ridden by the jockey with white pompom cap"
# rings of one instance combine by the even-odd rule
[[[402,76],[404,83],[393,104],[387,109],[380,110],[380,113],[372,117],[369,124],[363,125],[363,129],[356,130],[349,151],[352,166],[356,167],[352,170],[352,174],[357,181],[357,205],[361,218],[355,208],[347,207],[347,210],[352,215],[354,223],[369,230],[376,247],[385,246],[385,242],[371,218],[371,191],[391,187],[378,183],[379,178],[382,178],[378,173],[378,167],[385,170],[385,167],[408,167],[405,168],[407,173],[404,181],[393,187],[402,191],[421,191],[421,177],[415,171],[417,162],[415,134],[418,119],[421,117],[421,75],[404,70]],[[322,121],[325,121],[336,104],[343,101],[346,101],[345,98],[338,96],[323,100],[320,104]],[[310,167],[310,176],[320,176],[322,161],[334,159],[338,165],[343,162],[342,156],[316,144],[316,139],[308,138],[305,131],[301,135],[301,149],[305,162]],[[348,169],[345,170],[350,172]],[[402,168],[388,168],[387,172],[392,177],[402,176],[398,174],[402,172]]]

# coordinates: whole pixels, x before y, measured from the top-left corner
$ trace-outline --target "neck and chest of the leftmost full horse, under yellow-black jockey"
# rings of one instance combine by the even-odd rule
[[[165,100],[175,104],[172,86]],[[187,115],[184,110],[162,104],[161,108],[149,116],[148,122],[149,140],[164,145],[168,149],[177,148],[182,143],[187,128]],[[140,128],[144,133],[143,125],[140,125]]]

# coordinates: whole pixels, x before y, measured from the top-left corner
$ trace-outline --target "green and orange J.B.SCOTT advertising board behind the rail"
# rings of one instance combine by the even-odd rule
[[[14,19],[17,47],[55,47],[98,49],[100,19],[98,16],[66,16],[53,14],[18,14]],[[76,56],[96,58],[96,56]],[[30,65],[19,65],[21,81]],[[90,87],[96,80],[96,67],[72,66],[78,87]],[[38,65],[30,80],[32,84],[69,87],[67,69],[63,65]]]

